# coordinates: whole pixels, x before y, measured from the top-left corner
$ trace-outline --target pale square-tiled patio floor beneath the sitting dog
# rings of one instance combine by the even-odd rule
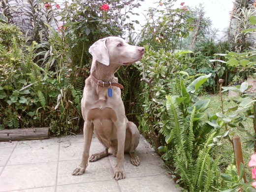
[[[94,138],[90,154],[103,149]],[[143,137],[137,148],[141,164],[132,165],[126,154],[126,179],[119,181],[113,179],[113,156],[89,162],[82,176],[72,176],[82,151],[83,135],[0,142],[0,192],[180,192]]]

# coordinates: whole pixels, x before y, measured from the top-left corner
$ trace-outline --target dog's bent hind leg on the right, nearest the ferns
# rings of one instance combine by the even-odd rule
[[[127,123],[127,131],[129,131],[131,134],[130,149],[129,149],[130,162],[131,162],[131,164],[138,166],[138,165],[140,165],[140,160],[139,160],[139,157],[137,156],[135,150],[139,144],[139,137],[140,137],[139,130],[134,123],[128,122]]]

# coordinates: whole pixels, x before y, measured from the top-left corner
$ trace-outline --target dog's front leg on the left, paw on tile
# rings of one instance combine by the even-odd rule
[[[94,127],[90,122],[84,123],[84,151],[82,161],[78,167],[73,171],[72,175],[82,175],[88,165],[89,151],[93,138]]]

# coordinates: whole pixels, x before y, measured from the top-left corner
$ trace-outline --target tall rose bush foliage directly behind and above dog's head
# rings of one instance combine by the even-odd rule
[[[109,5],[108,10],[101,10],[100,0],[74,0],[64,2],[62,19],[66,40],[69,40],[71,59],[74,65],[89,66],[91,55],[89,47],[98,39],[106,36],[125,36],[134,30],[138,21],[131,20],[133,9],[140,6],[140,0],[104,1]]]

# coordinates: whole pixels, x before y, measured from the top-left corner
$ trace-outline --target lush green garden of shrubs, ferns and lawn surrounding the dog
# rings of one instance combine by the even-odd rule
[[[126,115],[170,179],[188,192],[256,192],[256,2],[234,0],[218,41],[204,7],[186,1],[156,0],[138,32],[142,1],[1,0],[0,130],[81,133],[88,49],[120,36],[145,48],[115,74]]]

